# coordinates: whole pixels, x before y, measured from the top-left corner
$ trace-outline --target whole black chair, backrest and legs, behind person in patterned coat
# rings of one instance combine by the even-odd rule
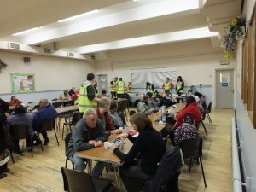
[[[184,159],[190,159],[189,163],[189,172],[191,171],[191,165],[192,165],[192,159],[199,159],[200,164],[201,164],[201,172],[204,178],[204,183],[205,187],[207,188],[207,182],[206,182],[206,177],[205,177],[205,172],[204,168],[202,165],[202,138],[201,137],[196,137],[196,138],[189,138],[189,139],[184,139],[179,147],[183,151],[183,158]]]

